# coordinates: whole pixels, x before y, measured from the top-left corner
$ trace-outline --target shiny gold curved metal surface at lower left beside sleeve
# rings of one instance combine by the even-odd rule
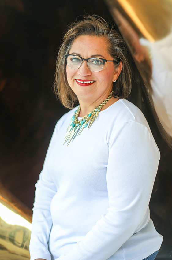
[[[3,260],[30,259],[32,211],[14,199],[0,183],[0,256]]]

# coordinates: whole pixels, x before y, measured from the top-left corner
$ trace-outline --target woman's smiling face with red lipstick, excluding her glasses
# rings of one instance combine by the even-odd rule
[[[113,60],[107,52],[106,39],[91,35],[78,36],[74,40],[69,54],[76,54],[85,59],[97,57]],[[115,69],[114,63],[110,61],[105,62],[101,71],[93,72],[88,68],[87,62],[83,61],[79,69],[71,69],[68,65],[66,66],[67,80],[79,102],[101,103],[110,94],[113,81],[118,78],[122,69],[122,62],[119,67]],[[91,83],[81,83],[88,81]]]

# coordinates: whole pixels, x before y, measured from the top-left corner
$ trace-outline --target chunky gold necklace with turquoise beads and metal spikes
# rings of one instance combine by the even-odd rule
[[[97,116],[101,110],[101,108],[107,103],[107,101],[112,97],[114,91],[111,91],[109,96],[95,109],[93,109],[90,113],[85,115],[82,119],[78,120],[78,115],[80,113],[80,106],[78,106],[78,109],[75,111],[70,124],[67,128],[66,135],[64,137],[65,142],[67,145],[70,143],[70,141],[73,141],[73,139],[78,136],[84,128],[88,126],[88,129],[91,127],[92,123],[97,119]],[[63,143],[63,144],[64,144]]]

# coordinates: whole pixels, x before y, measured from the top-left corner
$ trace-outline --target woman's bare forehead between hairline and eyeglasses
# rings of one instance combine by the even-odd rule
[[[107,52],[107,39],[100,36],[80,35],[78,36],[69,51],[69,54],[76,53],[80,55],[109,55]],[[84,57],[83,57],[84,58]]]

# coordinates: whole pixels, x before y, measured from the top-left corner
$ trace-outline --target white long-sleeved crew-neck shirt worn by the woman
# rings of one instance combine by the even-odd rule
[[[149,214],[159,149],[142,112],[120,99],[63,145],[57,123],[36,184],[31,260],[142,260],[163,237]]]

